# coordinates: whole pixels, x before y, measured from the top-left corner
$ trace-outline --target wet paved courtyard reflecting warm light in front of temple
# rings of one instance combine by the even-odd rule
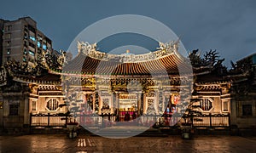
[[[68,139],[63,134],[0,136],[0,152],[256,152],[256,138],[204,135],[189,140],[179,136],[128,139],[89,135]]]

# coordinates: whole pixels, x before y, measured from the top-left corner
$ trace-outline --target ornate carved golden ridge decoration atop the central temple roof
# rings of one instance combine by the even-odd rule
[[[148,60],[160,59],[170,54],[177,54],[179,40],[176,42],[159,42],[158,50],[149,52],[147,54],[108,54],[96,50],[96,43],[90,44],[89,42],[78,42],[79,54],[85,54],[93,59],[100,59],[103,61],[113,60],[121,63],[138,63],[146,62]]]

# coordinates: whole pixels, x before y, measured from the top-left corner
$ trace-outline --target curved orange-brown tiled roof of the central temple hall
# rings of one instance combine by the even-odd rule
[[[154,76],[186,74],[191,70],[187,59],[176,52],[155,59],[127,63],[115,59],[96,59],[79,53],[69,61],[62,72],[84,75]]]

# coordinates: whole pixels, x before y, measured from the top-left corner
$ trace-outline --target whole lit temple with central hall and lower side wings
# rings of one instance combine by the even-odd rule
[[[78,51],[71,61],[63,53],[55,65],[45,62],[30,71],[6,62],[0,127],[64,126],[67,112],[82,125],[99,125],[107,116],[111,122],[138,119],[170,127],[185,114],[198,127],[230,127],[231,82],[218,75],[224,69],[215,52],[200,64],[196,52],[189,54],[191,62],[179,54],[178,42],[160,42],[148,54],[106,54],[88,42],[78,42]]]

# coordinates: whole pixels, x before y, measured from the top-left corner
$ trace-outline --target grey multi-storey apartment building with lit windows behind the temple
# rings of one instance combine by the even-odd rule
[[[37,28],[37,22],[30,17],[18,20],[0,20],[1,64],[15,59],[35,65],[44,54],[52,52],[52,41]]]

